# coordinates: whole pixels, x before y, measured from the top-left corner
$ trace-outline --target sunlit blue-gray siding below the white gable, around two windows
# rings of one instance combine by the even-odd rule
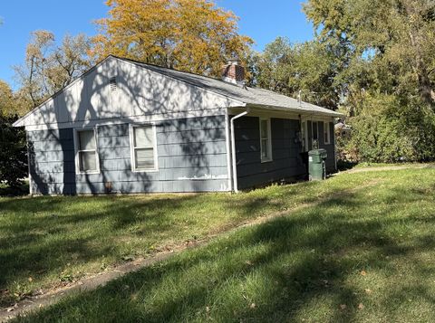
[[[129,124],[98,127],[100,174],[76,174],[73,128],[28,132],[34,194],[225,191],[225,117],[156,123],[159,170],[132,172]]]

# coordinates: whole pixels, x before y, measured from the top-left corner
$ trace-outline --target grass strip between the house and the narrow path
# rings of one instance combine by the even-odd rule
[[[242,195],[0,197],[0,305],[314,201],[310,192],[317,187],[271,186]],[[334,189],[321,187],[318,194]]]

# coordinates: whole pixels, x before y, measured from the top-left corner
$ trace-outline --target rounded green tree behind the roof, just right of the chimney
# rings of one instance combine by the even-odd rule
[[[340,85],[334,82],[334,58],[318,42],[289,43],[278,37],[256,60],[256,84],[325,108],[337,109]]]

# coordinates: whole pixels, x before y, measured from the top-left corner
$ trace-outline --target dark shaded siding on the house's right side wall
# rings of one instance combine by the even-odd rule
[[[235,127],[239,188],[304,175],[304,164],[299,155],[301,147],[295,143],[299,129],[297,120],[271,119],[273,160],[266,163],[261,162],[260,156],[259,118],[237,119]]]

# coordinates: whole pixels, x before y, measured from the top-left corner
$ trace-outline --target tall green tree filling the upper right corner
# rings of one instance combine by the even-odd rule
[[[435,2],[309,0],[304,11],[318,40],[340,48],[343,79],[365,90],[435,103]],[[371,75],[361,84],[359,72]],[[353,71],[354,70],[354,71]],[[367,89],[370,88],[370,89]]]

